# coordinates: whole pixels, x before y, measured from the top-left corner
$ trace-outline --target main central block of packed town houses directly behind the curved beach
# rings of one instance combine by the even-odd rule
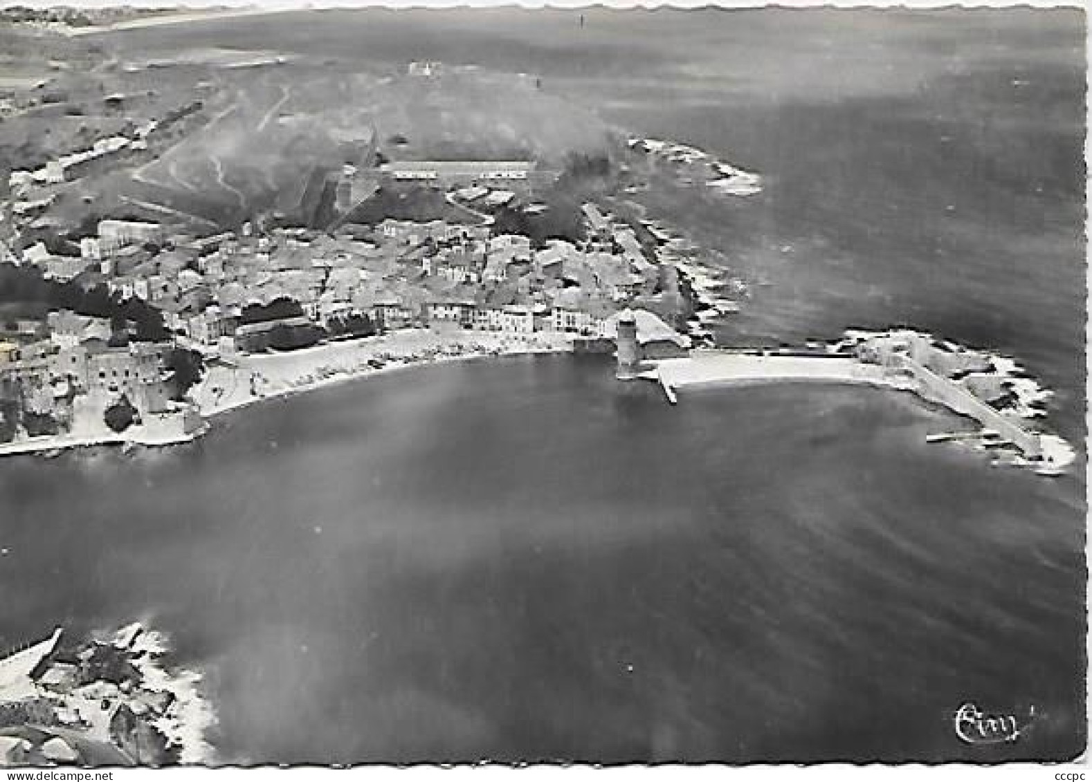
[[[212,237],[168,233],[156,222],[102,220],[80,255],[41,242],[19,263],[52,278],[105,285],[163,312],[167,327],[202,349],[247,350],[256,333],[367,316],[377,328],[455,326],[595,336],[627,303],[669,315],[670,264],[650,260],[632,228],[584,207],[587,239],[532,246],[488,225],[387,219],[336,236],[245,224]],[[247,322],[246,310],[288,300],[283,318]]]

